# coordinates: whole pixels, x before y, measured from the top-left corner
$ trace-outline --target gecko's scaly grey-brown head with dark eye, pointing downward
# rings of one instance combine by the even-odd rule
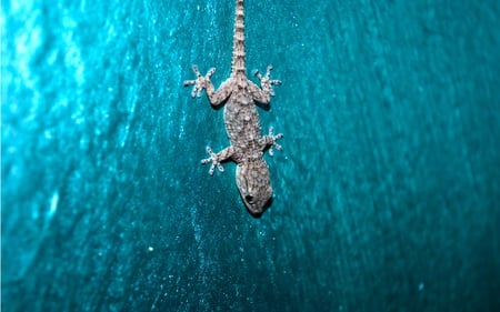
[[[259,218],[271,203],[269,168],[262,159],[240,162],[236,180],[240,195],[251,215]]]

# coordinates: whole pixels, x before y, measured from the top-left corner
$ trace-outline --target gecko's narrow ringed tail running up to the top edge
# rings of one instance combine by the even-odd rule
[[[232,74],[246,74],[243,0],[236,0],[234,34],[232,40]]]

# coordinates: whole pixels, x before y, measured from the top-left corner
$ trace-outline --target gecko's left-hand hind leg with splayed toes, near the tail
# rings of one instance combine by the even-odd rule
[[[230,88],[229,83],[224,82],[219,88],[218,91],[213,88],[213,83],[210,80],[210,77],[216,72],[214,68],[211,68],[206,76],[202,76],[197,66],[192,66],[192,70],[194,71],[197,79],[196,80],[186,80],[184,87],[194,85],[192,88],[191,97],[201,97],[201,91],[207,90],[207,97],[212,105],[217,107],[221,104],[229,95]]]

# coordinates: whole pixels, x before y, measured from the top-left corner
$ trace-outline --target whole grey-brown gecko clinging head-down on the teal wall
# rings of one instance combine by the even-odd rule
[[[258,70],[254,71],[254,76],[260,80],[259,88],[247,78],[244,59],[243,0],[236,0],[231,76],[216,90],[210,80],[216,69],[212,68],[202,76],[194,64],[192,69],[197,79],[187,80],[183,85],[193,85],[192,98],[199,98],[206,90],[212,108],[224,105],[223,119],[230,145],[218,153],[207,147],[209,158],[201,160],[201,163],[210,163],[209,173],[213,175],[216,168],[220,172],[224,171],[221,162],[234,161],[236,183],[244,207],[251,215],[259,218],[272,201],[269,167],[263,160],[263,152],[269,150],[272,157],[273,148],[281,151],[282,148],[277,141],[283,138],[283,134],[274,134],[272,127],[269,128],[268,135],[261,134],[256,104],[269,108],[271,97],[274,95],[272,85],[281,84],[281,81],[270,79],[272,67],[269,66],[263,76]]]

